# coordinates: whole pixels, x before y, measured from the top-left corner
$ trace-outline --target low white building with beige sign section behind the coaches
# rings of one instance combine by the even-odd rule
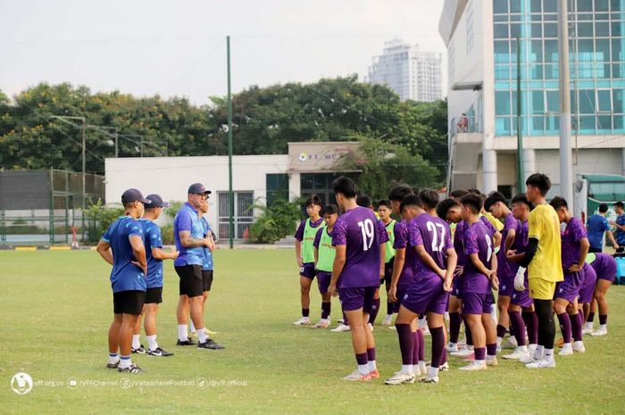
[[[236,239],[245,239],[254,217],[277,198],[294,200],[319,195],[322,203],[336,203],[331,183],[356,142],[289,143],[288,154],[235,155],[232,188]],[[129,187],[144,195],[156,193],[165,201],[187,201],[187,188],[200,182],[212,191],[207,219],[221,239],[229,237],[228,156],[110,158],[105,160],[106,203],[120,203]],[[164,223],[164,218],[161,221]]]

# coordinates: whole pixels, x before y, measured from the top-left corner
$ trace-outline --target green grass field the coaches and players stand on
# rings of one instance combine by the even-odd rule
[[[166,266],[159,343],[171,358],[135,359],[146,371],[104,369],[112,320],[109,266],[95,252],[0,252],[0,413],[623,413],[625,411],[625,288],[613,286],[608,336],[587,338],[587,353],[556,358],[557,368],[530,371],[500,359],[494,369],[452,370],[438,385],[384,386],[399,369],[396,332],[376,329],[382,379],[349,383],[354,369],[349,334],[296,328],[297,270],[290,250],[220,250],[215,255],[207,326],[223,351],[176,347],[178,277]],[[319,295],[312,295],[312,318]],[[339,304],[333,300],[333,320]],[[379,319],[381,320],[381,319]],[[333,323],[333,327],[335,324]],[[429,337],[426,337],[429,349]],[[146,344],[145,338],[142,343]],[[12,392],[25,371],[29,394]],[[67,386],[68,379],[78,386]],[[131,381],[195,381],[207,385],[116,386]],[[87,385],[86,381],[112,385]],[[235,385],[228,386],[229,381]],[[124,384],[125,385],[125,384]]]

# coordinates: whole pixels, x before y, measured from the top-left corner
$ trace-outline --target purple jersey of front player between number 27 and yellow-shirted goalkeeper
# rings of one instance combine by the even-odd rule
[[[469,225],[464,231],[464,254],[466,264],[462,273],[462,293],[490,294],[490,281],[473,265],[469,255],[477,253],[479,261],[490,270],[493,260],[493,234],[481,220]]]

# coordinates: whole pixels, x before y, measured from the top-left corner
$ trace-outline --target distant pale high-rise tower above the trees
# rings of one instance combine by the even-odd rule
[[[441,54],[421,51],[418,45],[395,38],[384,43],[384,50],[373,57],[371,84],[386,85],[404,101],[436,101],[443,97]]]

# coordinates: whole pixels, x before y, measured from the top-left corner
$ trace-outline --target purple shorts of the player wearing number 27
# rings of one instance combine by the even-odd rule
[[[420,278],[406,290],[401,303],[420,316],[426,312],[445,314],[448,298],[449,293],[443,289],[442,278]]]

